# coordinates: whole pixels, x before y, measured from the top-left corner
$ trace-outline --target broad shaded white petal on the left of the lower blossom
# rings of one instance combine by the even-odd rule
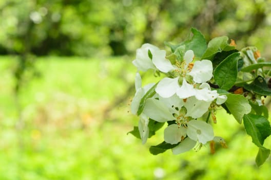
[[[174,117],[168,110],[168,107],[157,99],[147,99],[143,113],[149,118],[158,121],[166,122],[174,120]]]

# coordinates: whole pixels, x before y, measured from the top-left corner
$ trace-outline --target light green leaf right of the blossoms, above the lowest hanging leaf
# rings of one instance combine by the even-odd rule
[[[233,114],[237,122],[241,124],[243,116],[251,111],[248,100],[242,95],[227,94],[226,96],[225,104],[227,109]]]

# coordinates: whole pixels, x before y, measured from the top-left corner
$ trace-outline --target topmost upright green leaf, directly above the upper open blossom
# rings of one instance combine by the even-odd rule
[[[185,51],[193,50],[195,56],[200,58],[207,48],[206,40],[199,30],[191,28],[191,32],[193,36],[183,43],[185,45]]]

